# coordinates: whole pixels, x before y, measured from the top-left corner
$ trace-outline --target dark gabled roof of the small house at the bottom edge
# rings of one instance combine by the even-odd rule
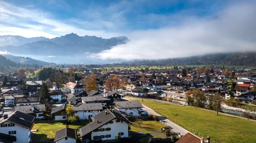
[[[56,142],[59,139],[65,138],[65,137],[77,139],[76,129],[71,129],[71,128],[66,127],[66,128],[57,130],[55,133],[54,142]]]

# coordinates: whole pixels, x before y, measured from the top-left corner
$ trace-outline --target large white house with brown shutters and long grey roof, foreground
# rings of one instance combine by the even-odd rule
[[[80,129],[82,140],[128,138],[128,125],[132,124],[119,111],[109,109],[93,116],[92,121]]]

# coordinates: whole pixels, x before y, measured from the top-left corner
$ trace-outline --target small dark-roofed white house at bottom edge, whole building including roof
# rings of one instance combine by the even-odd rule
[[[57,130],[55,133],[54,142],[55,143],[76,143],[77,131],[76,129],[63,128]]]

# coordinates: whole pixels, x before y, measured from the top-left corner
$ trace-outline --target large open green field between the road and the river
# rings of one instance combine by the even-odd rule
[[[136,99],[138,100],[138,99]],[[142,103],[142,101],[141,101]],[[150,108],[158,105],[159,114],[166,114],[219,143],[255,143],[256,122],[215,112],[144,100]]]

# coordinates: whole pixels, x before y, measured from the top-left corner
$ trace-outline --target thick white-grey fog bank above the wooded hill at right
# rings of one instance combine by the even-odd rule
[[[190,17],[175,27],[134,31],[127,44],[94,54],[100,59],[166,59],[193,55],[256,51],[256,5],[237,4],[216,18]]]

